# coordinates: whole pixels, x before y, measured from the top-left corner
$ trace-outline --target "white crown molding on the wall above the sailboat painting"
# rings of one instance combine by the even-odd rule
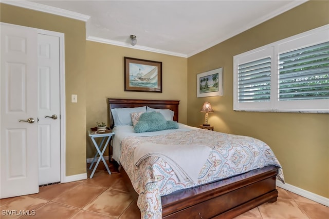
[[[182,54],[182,53],[176,53],[176,52],[171,52],[171,51],[166,51],[166,50],[154,49],[154,48],[146,47],[146,46],[138,46],[138,45],[132,46],[129,43],[123,43],[123,42],[119,42],[119,41],[111,41],[110,39],[105,39],[105,38],[101,38],[101,37],[87,36],[87,41],[94,41],[94,42],[98,42],[98,43],[111,44],[111,45],[115,45],[115,46],[131,48],[131,49],[139,49],[139,50],[143,50],[143,51],[156,52],[156,53],[161,53],[161,54],[166,54],[166,55],[173,55],[173,56],[179,56],[179,57],[187,58],[187,55]]]

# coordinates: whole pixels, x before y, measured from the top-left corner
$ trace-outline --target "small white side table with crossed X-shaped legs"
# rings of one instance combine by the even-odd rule
[[[111,171],[109,171],[109,169],[108,169],[108,166],[107,166],[107,164],[106,164],[106,162],[105,162],[105,159],[104,159],[104,157],[103,157],[103,154],[104,154],[104,151],[105,151],[105,149],[106,149],[106,147],[107,147],[107,145],[108,145],[108,143],[109,143],[109,140],[111,140],[112,136],[114,135],[114,132],[111,132],[111,133],[101,133],[101,134],[92,134],[92,133],[90,132],[90,130],[88,130],[88,135],[89,135],[89,137],[92,139],[92,142],[93,142],[93,144],[94,144],[94,146],[95,146],[95,148],[96,148],[96,150],[97,150],[97,152],[96,152],[96,154],[95,154],[95,156],[94,156],[93,162],[92,162],[92,164],[90,164],[89,170],[92,169],[92,167],[93,167],[93,165],[94,165],[94,163],[95,163],[96,157],[97,157],[97,155],[99,154],[99,157],[98,157],[97,163],[96,163],[96,165],[95,165],[95,167],[94,167],[94,170],[93,170],[92,174],[90,174],[90,178],[93,178],[94,173],[95,173],[95,171],[96,171],[96,169],[97,169],[97,167],[98,167],[98,164],[99,164],[99,162],[100,162],[101,160],[103,161],[103,163],[104,163],[104,165],[105,165],[105,167],[106,167],[106,170],[107,170],[108,174],[111,174]],[[101,137],[101,138],[102,138],[102,140],[101,140],[101,142],[100,142],[99,145],[98,145],[97,142],[95,141],[95,138],[96,138],[96,137]],[[106,138],[107,138],[107,140],[106,140],[105,144],[103,144]],[[101,150],[102,150],[102,151],[101,151]]]

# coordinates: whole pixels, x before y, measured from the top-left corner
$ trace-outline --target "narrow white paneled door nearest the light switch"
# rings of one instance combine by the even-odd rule
[[[59,40],[38,34],[39,185],[61,181]]]

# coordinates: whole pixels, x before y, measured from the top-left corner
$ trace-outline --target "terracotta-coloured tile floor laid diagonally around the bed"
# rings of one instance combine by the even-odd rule
[[[112,164],[109,168],[111,175],[101,163],[92,179],[43,186],[38,194],[4,198],[0,200],[0,218],[140,218],[136,200],[123,185],[117,168]],[[90,173],[88,170],[88,175]],[[279,187],[278,190],[277,202],[265,203],[235,219],[329,218],[329,207]],[[16,210],[11,211],[15,215],[5,215],[6,210]],[[20,210],[30,215],[22,215]]]

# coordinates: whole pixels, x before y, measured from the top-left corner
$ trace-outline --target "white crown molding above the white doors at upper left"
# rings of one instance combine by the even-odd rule
[[[80,14],[77,12],[72,12],[72,11],[68,11],[65,9],[55,8],[55,7],[51,7],[51,6],[47,6],[47,5],[41,5],[41,4],[34,3],[34,2],[1,1],[1,3],[13,5],[13,6],[21,7],[21,8],[27,8],[27,9],[31,9],[31,10],[35,10],[35,11],[42,11],[42,12],[46,12],[49,14],[55,14],[55,15],[69,17],[69,18],[73,18],[73,19],[78,19],[78,20],[84,21],[84,22],[87,22],[88,19],[90,19],[89,15]]]

